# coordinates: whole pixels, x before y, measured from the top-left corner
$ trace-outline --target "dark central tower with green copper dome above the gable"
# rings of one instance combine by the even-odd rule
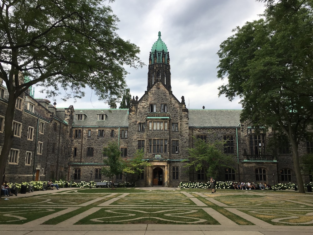
[[[162,82],[168,90],[171,90],[170,55],[166,44],[161,39],[160,31],[158,36],[150,52],[147,90],[151,89],[157,81]]]

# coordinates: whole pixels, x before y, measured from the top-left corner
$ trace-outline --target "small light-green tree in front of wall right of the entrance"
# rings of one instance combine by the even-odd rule
[[[230,155],[223,153],[224,142],[205,142],[194,138],[194,147],[188,148],[188,163],[184,167],[194,168],[196,171],[205,170],[207,178],[215,178],[220,170],[232,168],[234,163]]]

